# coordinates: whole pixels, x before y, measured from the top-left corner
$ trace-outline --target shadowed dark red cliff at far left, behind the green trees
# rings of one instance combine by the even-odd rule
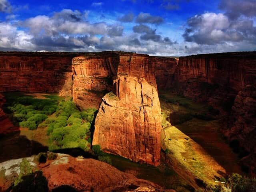
[[[71,96],[76,53],[0,53],[0,92],[60,92]]]

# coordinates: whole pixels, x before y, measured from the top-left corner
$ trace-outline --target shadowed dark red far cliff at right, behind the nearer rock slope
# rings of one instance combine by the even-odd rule
[[[255,66],[254,52],[181,57],[172,84],[186,97],[230,110],[236,94],[256,84]]]

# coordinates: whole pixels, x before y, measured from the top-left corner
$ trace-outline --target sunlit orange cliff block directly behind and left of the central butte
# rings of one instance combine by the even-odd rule
[[[80,108],[98,108],[102,97],[112,90],[118,55],[80,56],[73,59],[73,100]]]

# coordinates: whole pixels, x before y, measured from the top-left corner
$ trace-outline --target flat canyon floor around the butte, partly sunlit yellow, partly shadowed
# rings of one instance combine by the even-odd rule
[[[46,94],[30,95],[46,99]],[[160,103],[163,127],[160,166],[138,164],[109,154],[112,166],[139,179],[180,192],[198,189],[200,184],[197,181],[200,180],[216,184],[216,181],[228,174],[242,174],[237,154],[220,134],[222,119],[216,116],[211,120],[203,120],[202,116],[195,118],[198,117],[198,112],[207,114],[209,106],[166,92],[160,92]],[[10,116],[1,124],[0,148],[3,150],[0,162],[48,150],[49,136],[46,127],[37,130],[20,128],[10,120]],[[89,158],[80,152],[66,152],[75,154],[76,157],[83,155],[84,158]]]

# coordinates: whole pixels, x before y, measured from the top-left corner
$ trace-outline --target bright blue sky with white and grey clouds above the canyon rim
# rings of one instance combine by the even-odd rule
[[[256,0],[0,0],[0,51],[256,50]]]

